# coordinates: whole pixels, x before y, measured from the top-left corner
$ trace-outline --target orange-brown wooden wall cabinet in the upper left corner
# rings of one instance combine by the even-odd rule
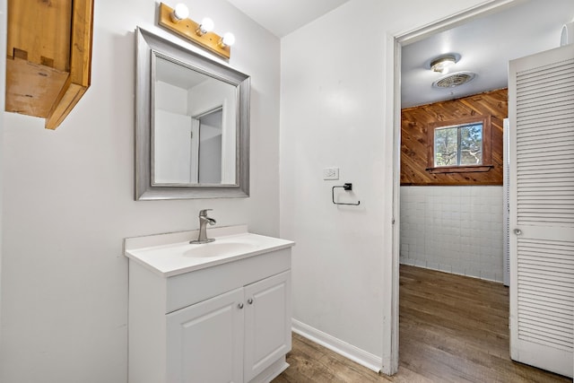
[[[93,0],[8,0],[6,111],[55,129],[91,81]]]

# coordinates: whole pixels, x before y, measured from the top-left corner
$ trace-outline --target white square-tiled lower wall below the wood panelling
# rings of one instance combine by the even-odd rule
[[[502,282],[502,187],[401,187],[401,264]]]

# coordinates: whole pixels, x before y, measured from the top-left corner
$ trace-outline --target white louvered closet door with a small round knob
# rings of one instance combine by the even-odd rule
[[[574,46],[509,65],[510,353],[572,377]]]

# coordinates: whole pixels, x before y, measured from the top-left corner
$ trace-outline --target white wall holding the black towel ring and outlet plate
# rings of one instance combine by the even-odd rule
[[[387,367],[394,146],[389,36],[482,3],[488,2],[351,0],[282,39],[281,233],[297,242],[293,318]],[[340,168],[339,181],[322,179],[322,169],[331,166]],[[331,187],[344,182],[352,182],[360,206],[331,203]]]

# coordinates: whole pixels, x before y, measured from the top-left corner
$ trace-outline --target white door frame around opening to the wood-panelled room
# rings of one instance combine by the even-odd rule
[[[460,24],[469,22],[476,17],[487,15],[490,13],[497,13],[505,8],[521,3],[523,0],[490,0],[485,1],[483,4],[475,5],[465,11],[454,13],[443,19],[435,22],[425,24],[414,28],[413,30],[406,30],[396,34],[388,33],[386,39],[386,57],[387,57],[387,71],[386,83],[393,84],[388,86],[386,91],[387,100],[392,102],[387,103],[385,108],[385,126],[392,126],[392,129],[387,129],[386,149],[392,152],[393,167],[392,174],[387,175],[393,179],[392,185],[392,206],[390,212],[392,216],[392,259],[391,259],[391,272],[390,275],[385,271],[385,276],[389,276],[387,281],[390,281],[390,308],[389,314],[390,321],[383,328],[384,335],[384,354],[389,355],[388,359],[383,359],[383,366],[381,371],[387,375],[393,375],[398,370],[398,347],[399,347],[399,256],[400,256],[400,174],[401,174],[401,49],[403,46],[413,42],[426,39],[427,37],[439,33],[443,30],[449,30],[457,27]],[[388,179],[386,177],[386,179]],[[388,211],[388,210],[387,210]],[[387,283],[388,286],[388,283]],[[386,286],[386,287],[387,287]]]

